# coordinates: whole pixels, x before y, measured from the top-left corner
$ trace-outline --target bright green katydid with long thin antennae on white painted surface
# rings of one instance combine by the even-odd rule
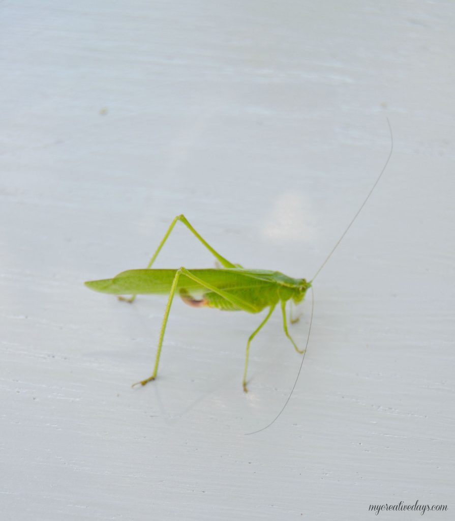
[[[292,278],[282,274],[279,271],[269,271],[260,269],[246,269],[239,264],[233,264],[225,257],[220,255],[207,243],[203,237],[193,228],[184,215],[178,215],[174,218],[169,226],[165,236],[158,245],[156,252],[151,257],[150,262],[144,269],[132,269],[122,271],[119,275],[111,279],[93,280],[85,282],[85,285],[94,291],[102,293],[110,293],[114,295],[132,295],[130,298],[119,296],[119,300],[132,303],[138,294],[168,294],[168,301],[165,309],[165,315],[162,320],[161,330],[158,340],[158,348],[155,357],[155,365],[153,373],[150,377],[136,382],[133,387],[141,384],[145,386],[151,380],[155,380],[158,373],[158,365],[160,361],[161,348],[165,337],[166,325],[171,310],[172,301],[175,293],[179,293],[182,300],[194,307],[208,306],[218,308],[223,311],[246,311],[248,313],[260,313],[263,309],[268,308],[268,312],[259,326],[250,334],[246,344],[246,357],[243,373],[243,389],[247,389],[247,371],[248,358],[251,341],[256,337],[259,331],[263,328],[266,322],[271,317],[275,307],[280,305],[283,330],[285,336],[294,349],[298,353],[305,353],[306,349],[299,349],[293,338],[290,336],[287,327],[286,304],[294,302],[298,304],[301,302],[307,290],[312,286],[312,282],[319,275],[321,269],[325,266],[328,259],[332,256],[338,244],[343,240],[347,231],[356,220],[361,212],[366,201],[376,187],[376,184],[381,179],[389,159],[393,151],[393,139],[391,136],[390,123],[387,120],[390,130],[391,147],[387,160],[381,170],[380,175],[376,179],[372,189],[363,201],[363,204],[353,217],[348,227],[339,238],[332,251],[326,257],[325,261],[318,269],[314,277],[308,281],[304,278]],[[180,221],[183,225],[191,231],[195,237],[207,248],[209,252],[217,259],[221,265],[220,268],[207,269],[186,269],[180,267],[179,269],[154,269],[152,268],[161,248],[169,238],[175,224]],[[290,320],[294,320],[291,318]],[[310,320],[311,328],[311,320]],[[308,345],[309,333],[307,337]],[[302,360],[303,362],[303,360]],[[300,366],[301,368],[301,366]],[[299,370],[300,374],[300,370]],[[297,380],[296,380],[297,381]],[[295,387],[295,384],[294,384]],[[290,398],[290,395],[289,395]],[[288,399],[289,400],[289,399]],[[287,401],[286,401],[287,403]],[[286,405],[285,403],[285,405]],[[283,407],[284,409],[284,407]],[[282,412],[282,411],[281,411]],[[281,414],[280,412],[280,414]],[[276,419],[276,418],[275,418]],[[275,420],[273,420],[275,421]],[[273,422],[272,422],[273,423]],[[262,430],[262,429],[261,429]]]

